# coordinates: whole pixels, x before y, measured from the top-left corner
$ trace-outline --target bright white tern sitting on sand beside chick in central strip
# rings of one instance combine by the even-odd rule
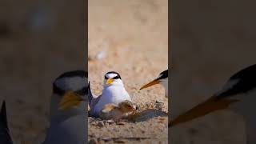
[[[102,94],[96,97],[91,92],[89,83],[88,95],[91,116],[98,117],[99,112],[106,104],[118,105],[126,100],[131,102],[130,95],[127,93],[122,78],[117,72],[110,71],[105,74],[103,87]]]

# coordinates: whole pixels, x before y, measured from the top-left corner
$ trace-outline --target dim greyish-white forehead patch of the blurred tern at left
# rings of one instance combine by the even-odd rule
[[[61,88],[62,90],[81,90],[83,87],[86,86],[86,78],[60,78],[55,82],[55,85]]]

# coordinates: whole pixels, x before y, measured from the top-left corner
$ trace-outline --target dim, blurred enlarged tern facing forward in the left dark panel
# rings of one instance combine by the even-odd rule
[[[50,128],[43,144],[86,143],[87,73],[82,70],[60,75],[53,84]]]

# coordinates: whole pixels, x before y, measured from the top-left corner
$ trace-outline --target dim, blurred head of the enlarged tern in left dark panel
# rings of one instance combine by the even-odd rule
[[[53,97],[54,102],[58,103],[58,110],[79,107],[86,101],[86,80],[87,73],[83,70],[69,71],[55,79]]]

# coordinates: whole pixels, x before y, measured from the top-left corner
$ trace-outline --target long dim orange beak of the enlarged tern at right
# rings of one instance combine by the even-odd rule
[[[179,115],[177,118],[174,118],[173,121],[169,123],[169,127],[173,127],[179,123],[188,122],[195,118],[202,117],[206,114],[210,114],[216,110],[223,110],[230,106],[233,102],[238,102],[237,99],[217,99],[215,96],[207,99],[205,102],[198,104],[198,106],[194,106],[194,108],[186,111]]]

